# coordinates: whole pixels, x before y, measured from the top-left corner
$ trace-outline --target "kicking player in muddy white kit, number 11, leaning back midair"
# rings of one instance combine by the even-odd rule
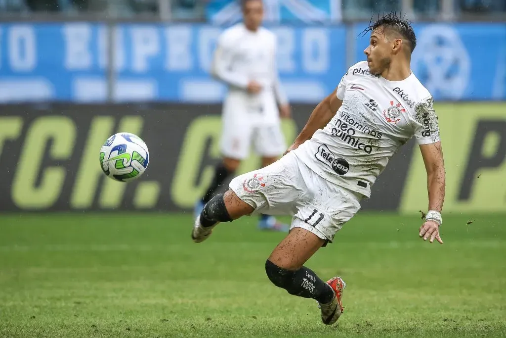
[[[293,215],[288,235],[272,251],[265,269],[270,281],[292,295],[316,299],[324,324],[343,312],[346,284],[324,282],[305,262],[360,209],[370,187],[401,145],[414,136],[428,179],[429,211],[419,236],[439,235],[445,169],[438,118],[429,91],[410,68],[416,46],[413,28],[389,14],[370,31],[366,61],[348,69],[336,90],[313,110],[306,126],[279,161],[235,177],[196,218],[194,242],[219,222],[258,212]]]

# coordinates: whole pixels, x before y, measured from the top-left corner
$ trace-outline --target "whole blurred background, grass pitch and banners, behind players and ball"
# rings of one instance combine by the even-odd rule
[[[412,20],[412,70],[441,129],[445,243],[418,237],[427,175],[410,141],[308,262],[349,284],[339,326],[324,327],[313,300],[265,276],[284,233],[244,217],[190,240],[220,160],[225,88],[209,65],[238,4],[0,0],[0,336],[504,335],[506,0],[264,4],[293,112],[286,143],[364,59],[371,17]],[[99,165],[120,131],[150,151],[128,184]],[[251,155],[239,173],[259,165]]]

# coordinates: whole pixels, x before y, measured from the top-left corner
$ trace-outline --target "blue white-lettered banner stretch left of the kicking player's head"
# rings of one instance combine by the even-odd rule
[[[346,69],[345,29],[271,27],[289,98],[319,101]],[[217,102],[209,74],[223,28],[120,24],[114,28],[116,101]],[[94,23],[0,25],[0,101],[107,99],[108,28]]]

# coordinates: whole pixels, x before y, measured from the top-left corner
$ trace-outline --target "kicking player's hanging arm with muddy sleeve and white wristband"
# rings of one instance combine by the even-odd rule
[[[442,223],[441,212],[446,188],[446,171],[444,167],[443,148],[439,135],[438,117],[429,97],[415,107],[415,138],[419,144],[421,156],[427,171],[427,191],[429,211],[425,222],[420,227],[419,236],[430,243],[436,239],[443,244],[439,235]]]

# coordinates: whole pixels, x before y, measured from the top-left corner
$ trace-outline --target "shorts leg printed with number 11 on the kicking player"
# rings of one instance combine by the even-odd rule
[[[360,196],[317,176],[313,198],[300,203],[291,228],[303,228],[326,242],[360,210]]]

